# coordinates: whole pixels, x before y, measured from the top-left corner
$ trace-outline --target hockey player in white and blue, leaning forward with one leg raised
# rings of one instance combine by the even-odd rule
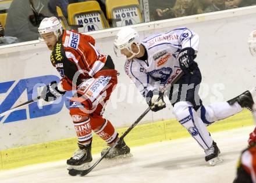
[[[127,57],[125,72],[147,100],[152,111],[166,107],[159,94],[181,72],[184,75],[167,91],[173,114],[205,152],[205,160],[212,166],[222,161],[219,148],[206,126],[253,106],[249,91],[227,102],[202,105],[198,96],[201,73],[194,61],[199,37],[188,28],[177,28],[153,34],[140,40],[138,32],[123,27],[116,35],[114,50],[117,56]]]

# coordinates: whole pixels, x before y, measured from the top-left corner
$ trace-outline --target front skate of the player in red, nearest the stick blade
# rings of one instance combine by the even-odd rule
[[[67,160],[67,170],[84,170],[90,167],[90,162],[93,160],[91,156],[91,145],[84,146],[79,144],[73,156]]]

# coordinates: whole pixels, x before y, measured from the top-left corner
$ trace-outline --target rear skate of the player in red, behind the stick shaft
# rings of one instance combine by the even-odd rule
[[[104,155],[109,148],[111,147],[102,149],[101,156]],[[130,148],[125,144],[125,141],[122,140],[118,145],[116,145],[115,148],[108,152],[108,154],[105,156],[105,159],[127,158],[131,156],[133,155],[130,153]]]

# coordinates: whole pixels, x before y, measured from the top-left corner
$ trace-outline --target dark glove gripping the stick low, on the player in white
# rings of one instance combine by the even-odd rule
[[[163,97],[159,99],[161,93],[158,91],[149,91],[146,96],[146,101],[151,108],[151,111],[157,112],[166,107],[165,101],[163,101]]]

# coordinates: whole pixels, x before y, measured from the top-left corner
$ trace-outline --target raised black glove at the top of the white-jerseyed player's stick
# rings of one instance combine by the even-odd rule
[[[197,68],[197,63],[194,61],[195,57],[195,50],[192,47],[185,47],[180,50],[177,58],[180,68],[185,74],[192,73]]]

